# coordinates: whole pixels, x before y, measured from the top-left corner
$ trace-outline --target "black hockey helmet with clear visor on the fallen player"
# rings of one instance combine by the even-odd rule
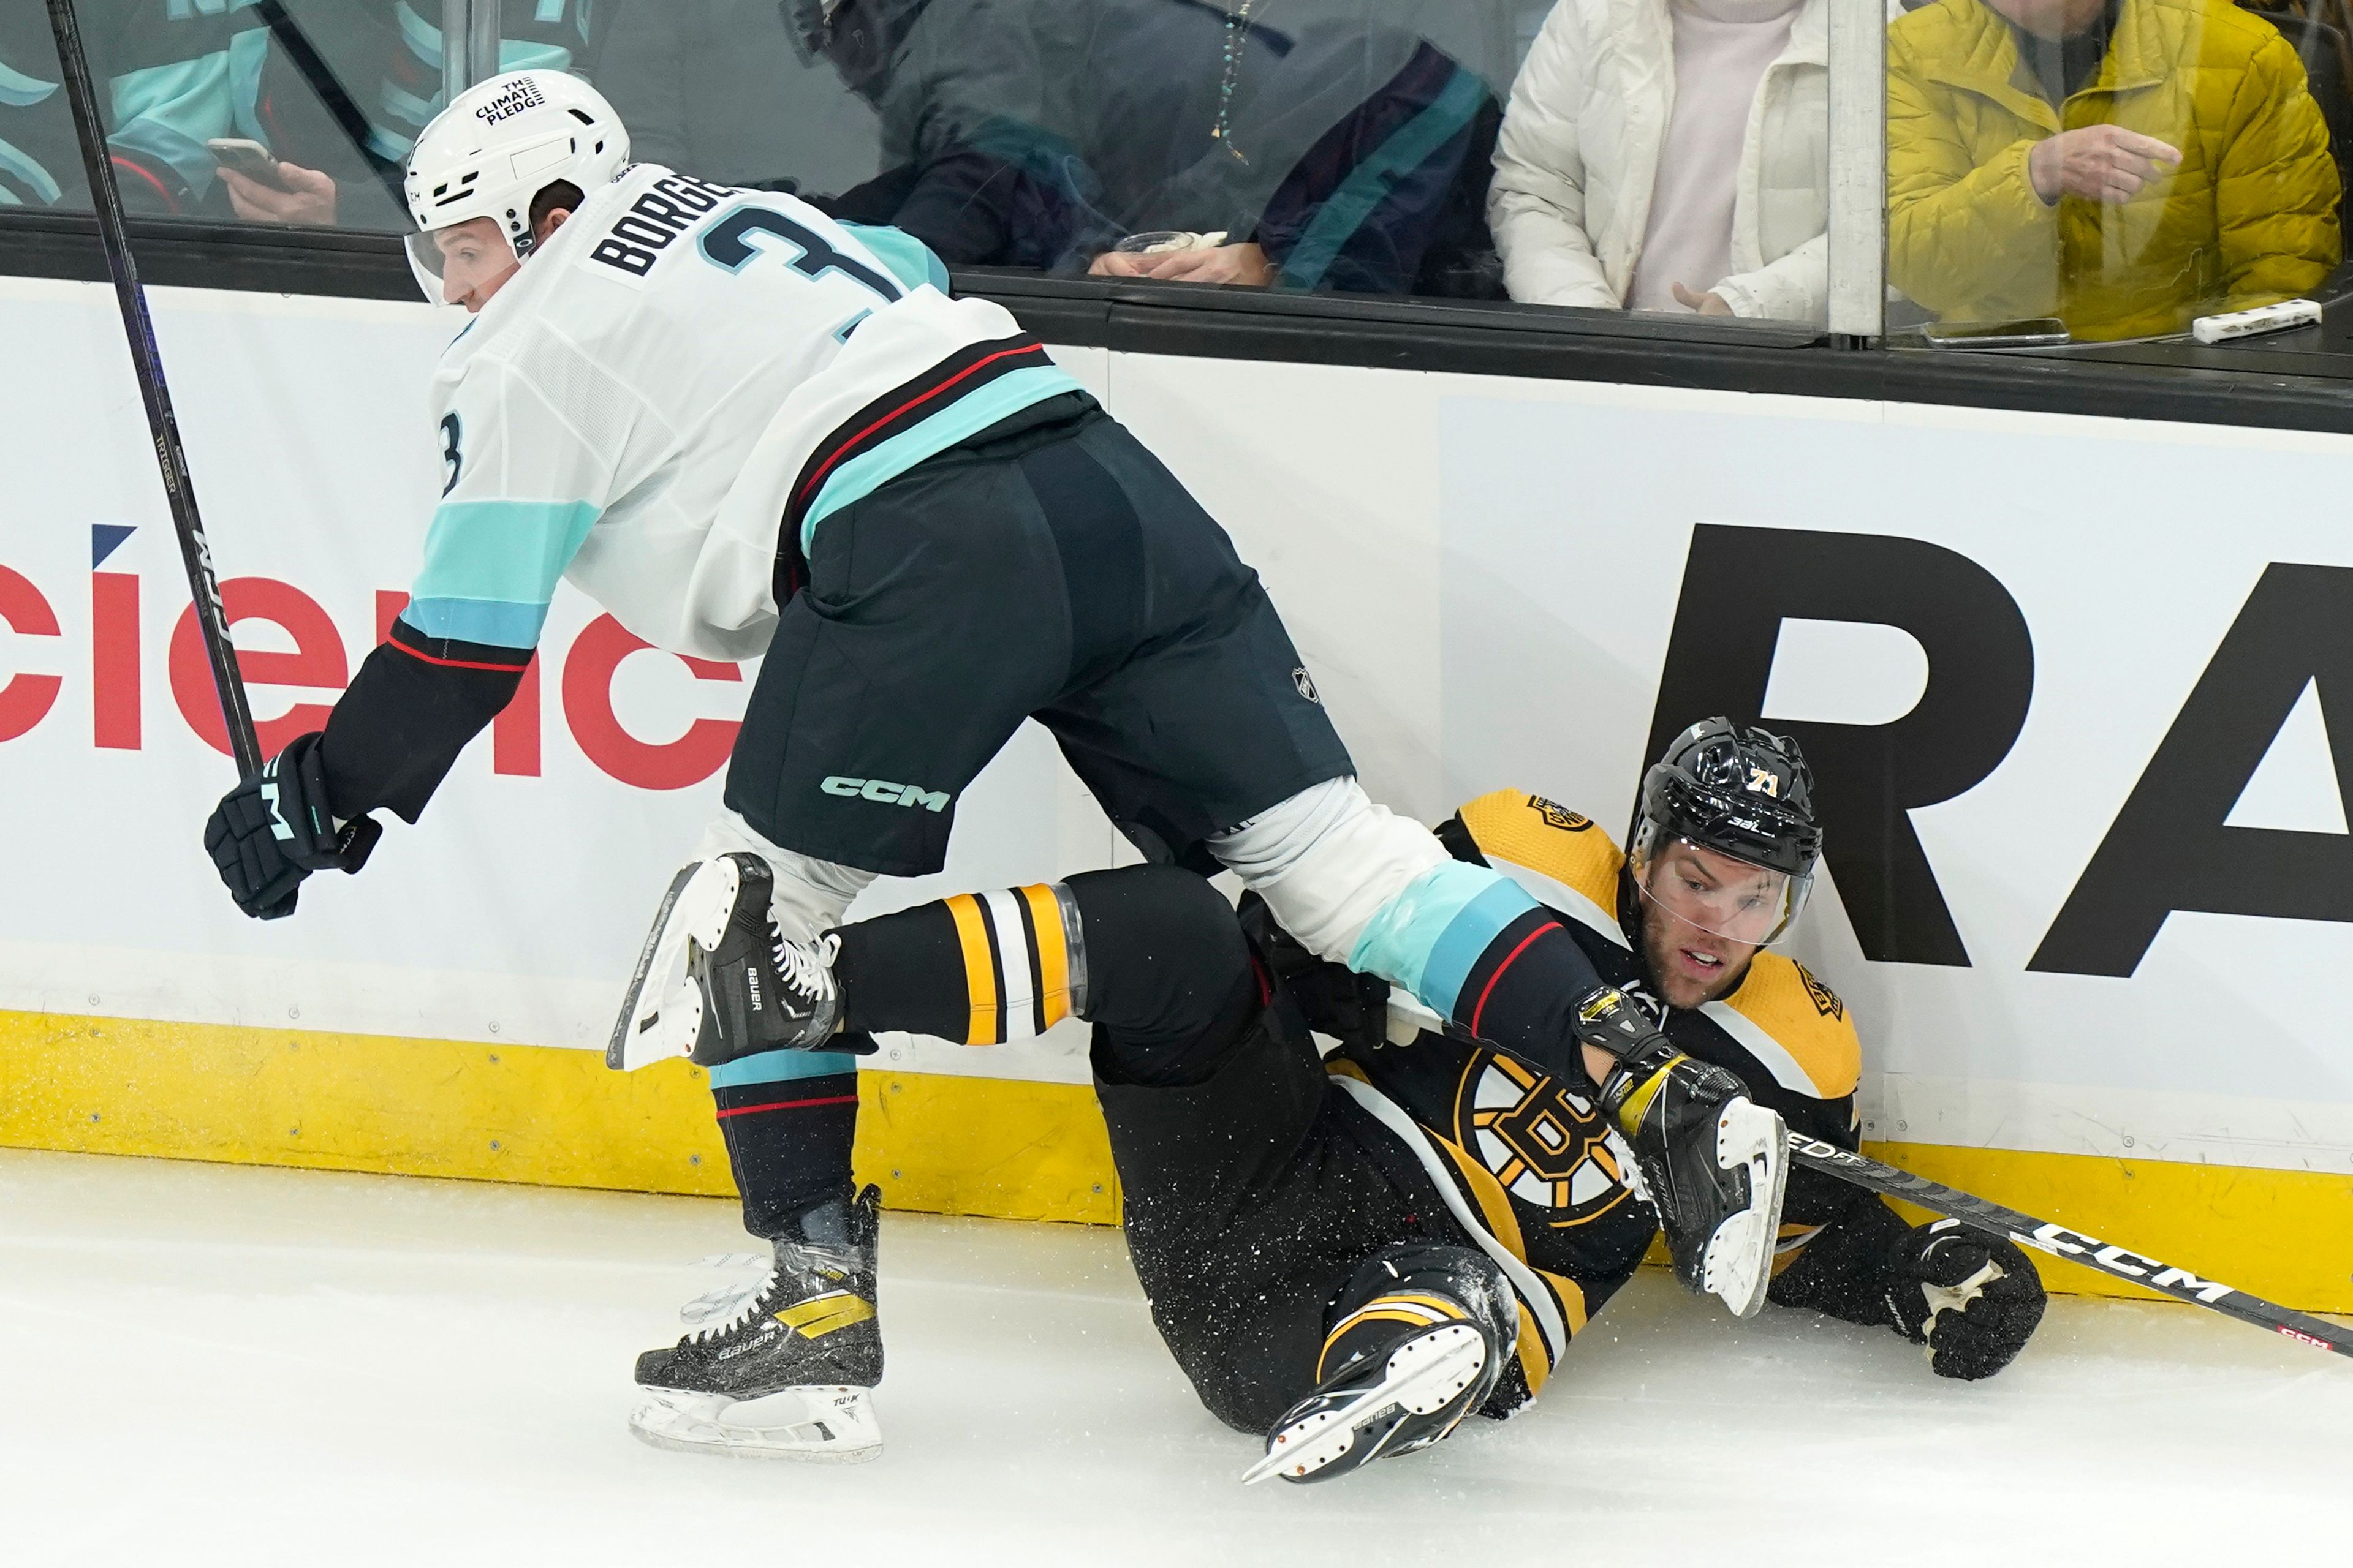
[[[1748,872],[1692,865],[1668,879],[1661,863],[1675,844],[1729,856]],[[1805,907],[1819,860],[1814,773],[1788,736],[1701,719],[1642,776],[1626,830],[1633,893],[1701,931],[1758,947],[1779,940]],[[1628,929],[1640,924],[1631,900],[1621,914]]]

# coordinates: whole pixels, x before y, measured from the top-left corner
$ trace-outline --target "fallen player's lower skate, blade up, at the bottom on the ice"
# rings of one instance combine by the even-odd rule
[[[1315,1392],[1266,1434],[1242,1486],[1329,1481],[1428,1448],[1480,1408],[1520,1342],[1504,1269],[1464,1246],[1391,1246],[1339,1298]]]

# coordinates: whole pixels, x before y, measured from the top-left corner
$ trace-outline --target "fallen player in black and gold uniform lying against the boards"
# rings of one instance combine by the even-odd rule
[[[1202,1403],[1266,1434],[1247,1479],[1320,1481],[1426,1448],[1471,1410],[1522,1408],[1633,1274],[1654,1215],[1727,1206],[1713,1145],[1739,1124],[1713,1110],[1729,1095],[1687,1084],[1737,1077],[1791,1126],[1854,1147],[1854,1023],[1765,950],[1814,875],[1809,795],[1795,743],[1711,719],[1647,771],[1626,856],[1518,792],[1440,827],[1454,858],[1534,891],[1614,980],[1584,1016],[1595,1048],[1560,1065],[1466,1030],[1395,1030],[1386,985],[1315,959],[1257,900],[1238,919],[1202,879],[1153,865],[859,922],[788,943],[784,966],[729,933],[701,973],[722,1009],[765,990],[800,1046],[845,1030],[993,1044],[1092,1020],[1153,1321]],[[1466,978],[1489,999],[1506,985],[1501,964]],[[1318,1060],[1311,1030],[1339,1051]],[[1664,1070],[1678,1060],[1697,1072]],[[1694,1121],[1704,1145],[1657,1135]],[[1786,1220],[1772,1279],[1744,1286],[1882,1324],[1937,1375],[1998,1373],[2042,1319],[2026,1255],[1953,1220],[1911,1227],[1809,1171],[1788,1178]],[[1718,1258],[1666,1234],[1675,1274],[1715,1288]],[[866,1363],[873,1293],[868,1220],[638,1378],[713,1394],[826,1382]]]

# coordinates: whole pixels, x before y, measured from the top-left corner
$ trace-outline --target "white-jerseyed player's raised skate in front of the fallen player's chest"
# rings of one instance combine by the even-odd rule
[[[1600,1107],[1633,1145],[1675,1279],[1755,1316],[1772,1284],[1788,1185],[1788,1131],[1748,1088],[1668,1044],[1617,990],[1579,1009],[1584,1044],[1619,1058]]]

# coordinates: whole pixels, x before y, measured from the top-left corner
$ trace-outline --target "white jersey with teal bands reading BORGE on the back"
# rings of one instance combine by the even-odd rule
[[[529,649],[569,578],[656,646],[765,651],[795,482],[809,487],[795,520],[812,529],[925,456],[1078,390],[1012,315],[944,289],[939,259],[899,230],[631,169],[442,355],[447,487],[402,618],[428,639]],[[976,360],[1005,364],[925,381]],[[849,447],[861,428],[878,440]],[[828,437],[831,456],[812,458]]]

